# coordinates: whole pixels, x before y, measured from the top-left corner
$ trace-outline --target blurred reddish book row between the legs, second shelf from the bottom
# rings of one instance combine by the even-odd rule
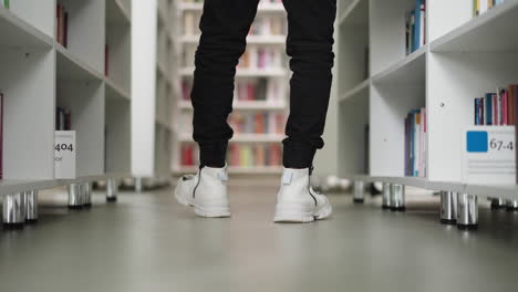
[[[238,134],[283,134],[286,115],[277,113],[232,113],[228,124]]]

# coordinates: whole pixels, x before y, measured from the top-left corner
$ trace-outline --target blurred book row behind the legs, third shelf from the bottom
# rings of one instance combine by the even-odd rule
[[[190,91],[193,88],[191,80],[182,81],[182,100],[190,101]],[[272,101],[279,102],[286,96],[284,84],[282,81],[273,79],[249,79],[236,82],[236,101]]]

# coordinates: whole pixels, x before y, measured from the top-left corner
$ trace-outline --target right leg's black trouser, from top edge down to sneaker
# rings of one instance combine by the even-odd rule
[[[325,125],[334,54],[336,0],[283,0],[288,12],[287,53],[291,56],[290,116],[283,165],[309,168]]]

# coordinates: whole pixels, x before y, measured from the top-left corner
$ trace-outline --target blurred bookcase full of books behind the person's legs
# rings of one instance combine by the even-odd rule
[[[193,1],[193,0],[177,0],[175,1],[176,6],[176,21],[178,23],[177,30],[175,31],[175,39],[178,41],[178,72],[177,79],[174,82],[178,84],[178,90],[180,91],[179,98],[175,100],[173,103],[174,115],[178,118],[174,119],[173,125],[173,161],[172,167],[176,174],[185,173],[196,173],[197,171],[197,146],[193,142],[193,106],[190,104],[190,86],[194,72],[194,53],[198,45],[199,41],[199,29],[198,22],[203,12],[203,1]],[[276,29],[261,30],[261,23],[272,23],[271,27]],[[289,108],[288,102],[288,79],[289,79],[289,69],[287,63],[287,58],[284,56],[284,44],[286,44],[286,34],[287,34],[287,21],[286,21],[286,11],[281,1],[271,1],[271,0],[261,0],[258,7],[258,12],[256,21],[252,24],[252,28],[256,28],[256,32],[250,32],[247,36],[247,53],[241,58],[240,65],[238,65],[236,73],[236,91],[235,91],[235,101],[234,101],[234,113],[230,115],[230,119],[238,118],[244,116],[245,128],[238,129],[235,127],[235,136],[230,140],[229,154],[227,157],[229,166],[229,173],[246,175],[246,174],[280,174],[282,167],[280,161],[277,161],[274,165],[270,165],[268,159],[263,161],[258,157],[258,152],[265,153],[277,153],[277,149],[271,148],[272,145],[280,145],[279,143],[283,139],[283,133],[278,131],[273,132],[273,123],[277,125],[277,122],[273,122],[272,116],[283,115],[284,117]],[[253,31],[253,29],[252,29]],[[260,54],[259,52],[267,52],[274,55],[276,62],[266,66],[253,65],[253,54]],[[248,55],[247,55],[248,54]],[[247,62],[250,63],[247,65]],[[260,95],[259,87],[261,82],[266,84],[274,84],[271,87],[277,86],[277,91],[267,91],[260,98],[244,98],[246,94],[242,93],[239,88],[241,86],[257,86],[253,87],[253,92],[257,92],[257,95]],[[248,85],[242,85],[248,84]],[[250,85],[252,84],[252,85]],[[267,87],[270,85],[266,85]],[[255,94],[253,94],[255,95]],[[250,97],[250,96],[248,96]],[[262,131],[250,129],[251,124],[258,123],[252,121],[258,115],[267,115],[265,117],[268,119],[268,126],[265,126]],[[253,116],[253,118],[251,118]],[[248,124],[247,124],[248,123]],[[279,125],[286,123],[286,119],[279,122]],[[183,157],[185,156],[185,147],[194,147],[189,149],[191,154],[191,165],[184,164]],[[242,159],[234,159],[236,155],[232,155],[234,152],[239,152],[241,157],[248,157],[251,152],[253,156],[253,161],[247,161],[246,166],[244,165]],[[280,149],[279,149],[280,154]],[[270,154],[274,156],[273,154]],[[268,156],[268,155],[267,155]],[[279,156],[280,157],[280,156]],[[240,160],[239,163],[236,163]]]

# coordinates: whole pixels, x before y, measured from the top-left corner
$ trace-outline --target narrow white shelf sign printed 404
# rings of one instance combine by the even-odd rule
[[[55,178],[75,178],[75,131],[56,131],[54,134]]]

